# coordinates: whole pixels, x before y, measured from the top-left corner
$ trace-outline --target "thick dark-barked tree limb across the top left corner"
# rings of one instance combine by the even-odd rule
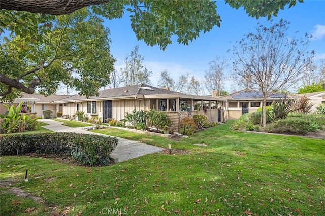
[[[0,9],[28,11],[42,14],[71,14],[90,5],[100,5],[110,0],[1,0]]]

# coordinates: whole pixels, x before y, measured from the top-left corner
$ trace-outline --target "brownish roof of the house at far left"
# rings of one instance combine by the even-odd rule
[[[14,102],[21,102],[21,101],[30,101],[30,102],[35,102],[35,103],[52,103],[54,101],[63,99],[63,98],[67,98],[67,97],[71,97],[69,95],[58,95],[58,94],[54,94],[54,95],[49,95],[49,96],[44,96],[42,94],[27,94],[24,93],[22,97],[16,99]]]

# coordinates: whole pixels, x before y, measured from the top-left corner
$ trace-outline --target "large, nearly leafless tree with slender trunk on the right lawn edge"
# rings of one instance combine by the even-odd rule
[[[309,35],[295,39],[287,35],[287,21],[265,27],[258,23],[255,33],[244,35],[233,47],[234,73],[251,83],[263,96],[263,126],[266,126],[266,98],[274,91],[297,82],[310,64],[314,51],[307,51]],[[297,32],[296,32],[297,33]]]

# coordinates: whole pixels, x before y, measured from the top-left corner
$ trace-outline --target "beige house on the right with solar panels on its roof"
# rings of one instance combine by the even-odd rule
[[[283,98],[292,98],[285,94],[270,94],[266,99],[266,105],[271,105],[273,101],[279,101]],[[263,106],[263,96],[261,91],[241,90],[218,97],[220,106],[224,109],[225,119],[238,119],[242,114],[256,112]]]

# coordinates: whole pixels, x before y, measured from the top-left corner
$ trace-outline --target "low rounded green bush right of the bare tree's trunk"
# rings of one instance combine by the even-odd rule
[[[266,126],[265,131],[271,133],[293,133],[293,134],[308,134],[310,131],[315,131],[319,128],[315,123],[306,119],[297,117],[288,117],[279,119],[274,123]]]

